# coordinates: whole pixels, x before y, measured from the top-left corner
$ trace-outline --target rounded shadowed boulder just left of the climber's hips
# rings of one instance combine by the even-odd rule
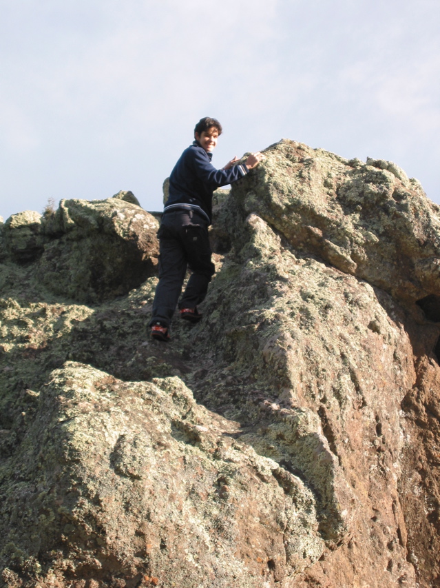
[[[123,196],[63,200],[46,219],[50,241],[37,271],[48,290],[95,303],[127,294],[156,274],[158,221],[133,195]]]

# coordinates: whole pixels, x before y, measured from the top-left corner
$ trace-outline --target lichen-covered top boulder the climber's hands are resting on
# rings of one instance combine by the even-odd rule
[[[264,154],[251,178],[234,185],[234,202],[246,214],[404,303],[438,296],[440,207],[417,180],[388,161],[348,161],[296,141]]]

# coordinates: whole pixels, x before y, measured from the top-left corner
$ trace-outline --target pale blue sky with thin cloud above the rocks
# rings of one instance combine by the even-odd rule
[[[388,159],[440,203],[440,0],[0,0],[0,215],[162,183],[282,137]]]

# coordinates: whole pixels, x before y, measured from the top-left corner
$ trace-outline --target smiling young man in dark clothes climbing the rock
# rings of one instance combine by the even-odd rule
[[[191,276],[178,303],[180,317],[191,323],[202,318],[197,305],[205,298],[215,271],[208,236],[213,191],[242,178],[263,159],[260,152],[253,153],[244,165],[234,165],[238,161],[234,157],[222,170],[216,170],[211,158],[221,133],[222,126],[216,119],[200,119],[194,129],[195,141],[182,153],[169,176],[169,197],[158,230],[159,282],[149,323],[151,336],[158,341],[169,341],[169,325],[187,267]]]

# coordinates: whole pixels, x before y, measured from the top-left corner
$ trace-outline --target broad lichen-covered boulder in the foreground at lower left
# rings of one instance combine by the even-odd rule
[[[322,555],[311,490],[179,378],[124,383],[67,363],[34,402],[0,509],[1,561],[29,581],[64,585],[68,570],[109,586],[250,588]]]

